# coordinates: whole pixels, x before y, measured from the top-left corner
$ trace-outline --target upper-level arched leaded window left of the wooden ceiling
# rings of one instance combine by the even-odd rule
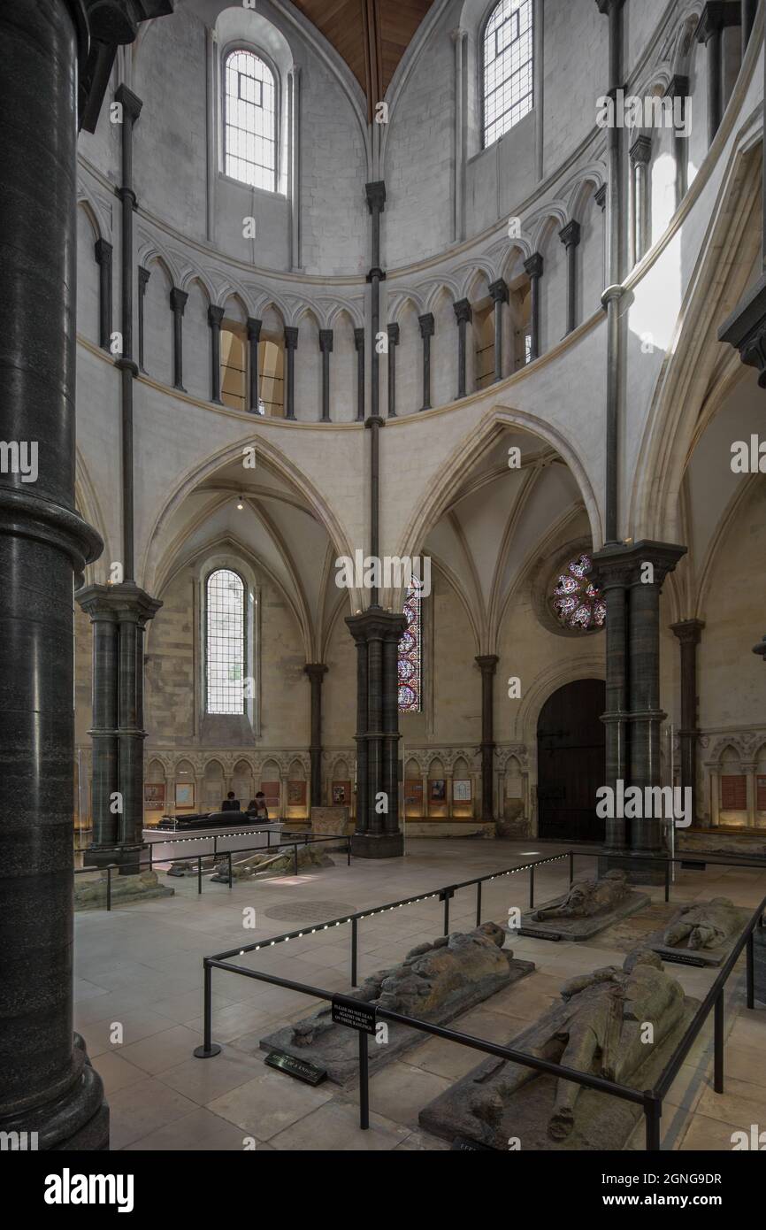
[[[225,64],[224,170],[232,180],[277,191],[274,74],[255,52],[230,52]]]

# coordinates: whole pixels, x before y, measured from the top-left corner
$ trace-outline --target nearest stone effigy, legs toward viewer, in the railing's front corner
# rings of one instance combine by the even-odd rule
[[[681,985],[665,973],[661,958],[650,950],[631,953],[622,969],[606,966],[571,979],[561,995],[563,1004],[550,1007],[521,1033],[514,1049],[622,1084],[630,1084],[632,1073],[684,1012]],[[654,1026],[652,1043],[642,1041],[646,1022]],[[505,1101],[539,1075],[531,1068],[500,1060],[476,1077],[471,1113],[484,1123],[498,1124]],[[548,1121],[551,1139],[563,1140],[572,1133],[582,1087],[574,1081],[557,1081]]]

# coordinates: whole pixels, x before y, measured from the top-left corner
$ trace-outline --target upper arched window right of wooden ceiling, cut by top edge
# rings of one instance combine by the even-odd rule
[[[484,26],[484,145],[532,109],[532,0],[500,0]]]

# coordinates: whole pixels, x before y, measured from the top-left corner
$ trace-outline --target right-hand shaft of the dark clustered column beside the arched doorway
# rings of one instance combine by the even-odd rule
[[[659,705],[659,595],[686,547],[639,542],[631,581],[628,611],[628,662],[631,710],[631,785],[646,790],[661,785],[660,727],[666,717]],[[654,579],[642,579],[646,565]],[[631,849],[638,854],[663,854],[665,825],[659,818],[633,820]],[[657,877],[653,877],[657,878]]]

